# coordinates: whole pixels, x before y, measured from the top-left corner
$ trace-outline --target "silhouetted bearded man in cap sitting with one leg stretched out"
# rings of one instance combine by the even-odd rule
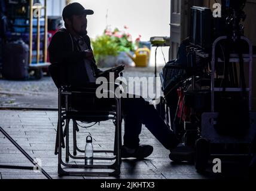
[[[83,86],[83,82],[96,82],[97,69],[95,58],[87,36],[86,10],[78,3],[67,5],[62,17],[65,28],[60,29],[51,39],[49,46],[50,62],[65,64],[68,73],[65,76],[69,84]],[[124,145],[121,148],[122,158],[147,158],[153,152],[150,145],[139,144],[142,124],[163,144],[172,150],[179,141],[167,127],[153,105],[144,98],[122,98],[121,109],[124,118]]]

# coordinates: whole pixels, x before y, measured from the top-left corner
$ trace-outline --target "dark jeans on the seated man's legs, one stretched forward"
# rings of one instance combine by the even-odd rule
[[[142,124],[166,149],[176,145],[176,136],[148,101],[144,98],[122,98],[121,110],[124,118],[124,146],[134,149],[139,145]]]

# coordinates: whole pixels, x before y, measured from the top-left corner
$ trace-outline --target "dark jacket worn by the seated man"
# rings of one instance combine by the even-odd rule
[[[91,48],[89,36],[83,36],[87,47]],[[48,47],[51,64],[60,64],[60,72],[68,84],[74,86],[83,86],[84,82],[89,82],[86,67],[84,65],[84,53],[78,50],[77,42],[74,41],[71,34],[65,29],[59,29],[51,39]],[[93,72],[101,72],[96,66],[95,58],[92,59]]]

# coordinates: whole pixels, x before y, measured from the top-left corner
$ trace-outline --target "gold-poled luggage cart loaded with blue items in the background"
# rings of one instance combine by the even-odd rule
[[[39,1],[11,1],[8,2],[8,18],[10,31],[7,32],[8,41],[22,39],[29,46],[28,70],[30,76],[42,78],[42,69],[47,69],[48,21],[47,1],[44,5]]]

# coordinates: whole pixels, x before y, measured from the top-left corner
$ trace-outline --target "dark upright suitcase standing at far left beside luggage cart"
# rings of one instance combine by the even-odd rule
[[[5,79],[16,80],[29,78],[29,46],[21,39],[5,45],[2,76]]]

